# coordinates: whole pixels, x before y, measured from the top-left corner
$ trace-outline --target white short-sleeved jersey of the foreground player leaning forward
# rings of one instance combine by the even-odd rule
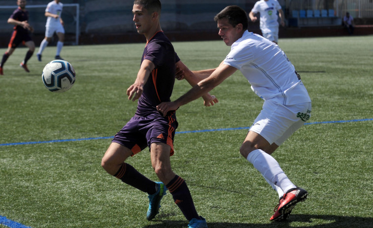
[[[311,101],[285,53],[261,35],[245,31],[223,64],[239,69],[265,100],[283,105]]]

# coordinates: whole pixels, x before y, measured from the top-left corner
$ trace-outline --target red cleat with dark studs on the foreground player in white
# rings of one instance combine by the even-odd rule
[[[291,211],[298,202],[306,199],[308,193],[302,188],[290,190],[279,200],[278,205],[274,208],[275,213],[270,220],[281,221],[289,218]],[[277,209],[277,210],[276,210]]]

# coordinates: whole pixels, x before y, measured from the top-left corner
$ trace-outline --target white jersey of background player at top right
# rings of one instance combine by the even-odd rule
[[[278,29],[277,11],[281,5],[277,0],[260,0],[255,2],[253,13],[260,13],[260,29],[262,33],[270,33]]]

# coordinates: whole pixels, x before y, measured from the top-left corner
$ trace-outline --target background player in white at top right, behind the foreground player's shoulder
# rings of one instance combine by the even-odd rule
[[[267,39],[273,43],[278,43],[278,21],[277,11],[280,16],[281,26],[285,26],[285,16],[281,9],[281,5],[277,0],[260,0],[255,2],[254,7],[249,13],[252,22],[256,22],[256,13],[260,13],[260,30]]]

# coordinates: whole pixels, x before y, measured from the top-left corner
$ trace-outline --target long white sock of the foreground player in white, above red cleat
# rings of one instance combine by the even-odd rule
[[[284,171],[282,171],[278,162],[263,150],[257,149],[250,152],[246,159],[267,179],[267,182],[278,186],[283,193],[287,193],[290,189],[296,188],[285,175]]]

